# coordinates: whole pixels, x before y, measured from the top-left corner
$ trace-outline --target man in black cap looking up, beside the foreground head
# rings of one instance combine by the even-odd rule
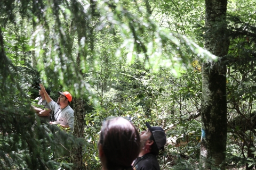
[[[133,162],[134,170],[160,170],[157,161],[159,150],[164,150],[166,134],[159,126],[150,126],[146,122],[147,131],[140,134],[141,149],[139,157]]]

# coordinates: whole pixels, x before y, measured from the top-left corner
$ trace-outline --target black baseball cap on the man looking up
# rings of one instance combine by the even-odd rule
[[[156,146],[159,150],[164,150],[164,146],[166,143],[166,134],[163,128],[159,126],[150,126],[148,122],[146,122],[146,126],[148,130],[153,134],[154,141],[156,142]]]

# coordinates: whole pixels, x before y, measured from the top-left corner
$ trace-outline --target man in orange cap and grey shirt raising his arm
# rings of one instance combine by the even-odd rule
[[[72,96],[68,91],[58,92],[60,97],[55,103],[51,97],[47,94],[44,85],[39,84],[41,90],[44,92],[45,99],[50,107],[54,111],[51,117],[50,124],[59,124],[62,128],[70,128],[73,131],[74,126],[74,111],[69,106],[72,101]]]

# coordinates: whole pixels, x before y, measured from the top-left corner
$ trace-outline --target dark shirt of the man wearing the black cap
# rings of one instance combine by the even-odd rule
[[[133,168],[135,170],[160,170],[156,155],[150,152],[135,159]]]

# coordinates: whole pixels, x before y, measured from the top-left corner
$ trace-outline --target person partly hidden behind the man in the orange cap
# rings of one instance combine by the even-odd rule
[[[51,93],[50,88],[46,88],[45,91],[47,92],[48,95],[50,95]],[[41,97],[37,97],[35,100],[38,100],[37,104],[42,105],[43,108],[33,106],[33,109],[36,113],[36,116],[38,116],[43,123],[50,122],[50,117],[52,116],[52,110],[47,104],[47,101],[45,100],[44,92],[41,89],[39,90],[39,95]]]

